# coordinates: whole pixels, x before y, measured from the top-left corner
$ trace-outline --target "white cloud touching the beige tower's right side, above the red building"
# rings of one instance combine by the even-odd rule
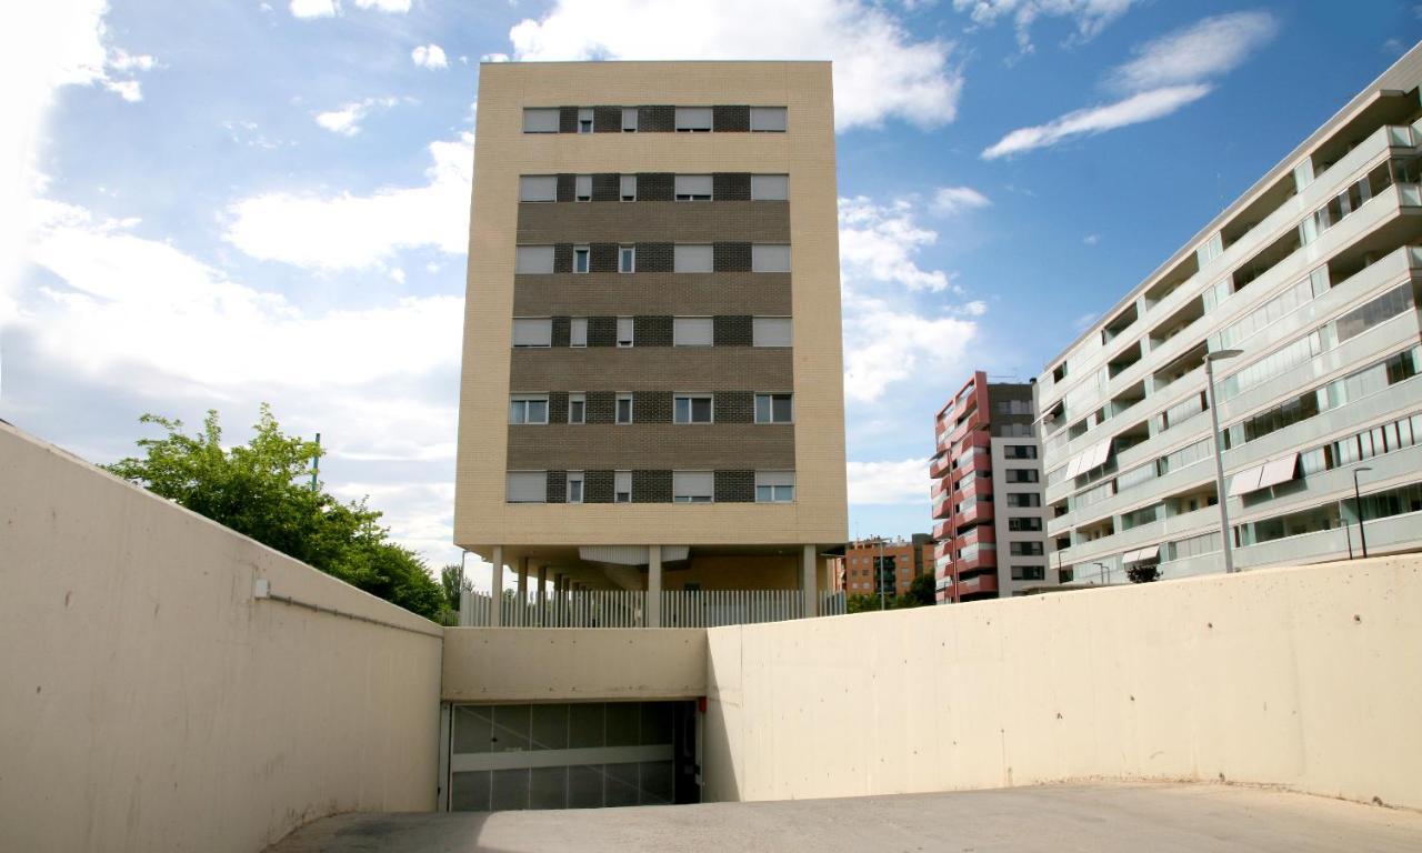
[[[950,277],[919,266],[917,253],[937,233],[914,220],[906,202],[839,200],[843,276],[845,397],[873,402],[896,382],[958,367],[985,306],[944,306],[920,313],[906,291],[943,291]],[[889,286],[889,287],[884,287]]]

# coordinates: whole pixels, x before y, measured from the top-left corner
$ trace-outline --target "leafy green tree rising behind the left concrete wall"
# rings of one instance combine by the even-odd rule
[[[105,465],[109,472],[405,610],[432,620],[448,610],[444,587],[414,552],[388,540],[380,512],[309,486],[321,448],[284,435],[266,404],[252,441],[232,449],[222,446],[216,411],[196,435],[159,415],[139,422],[166,435],[139,439],[144,455]]]

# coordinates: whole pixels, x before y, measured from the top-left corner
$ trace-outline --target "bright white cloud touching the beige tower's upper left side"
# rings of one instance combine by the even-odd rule
[[[429,145],[422,186],[337,196],[273,192],[228,208],[223,239],[262,260],[316,270],[375,267],[401,249],[469,247],[474,134]]]

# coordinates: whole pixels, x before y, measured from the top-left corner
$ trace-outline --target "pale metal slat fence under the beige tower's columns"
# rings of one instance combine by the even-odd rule
[[[465,590],[459,624],[489,626],[488,593]],[[661,627],[714,628],[802,618],[799,590],[667,590],[661,593]],[[819,593],[815,616],[842,616],[845,593]],[[505,593],[499,624],[509,628],[641,628],[647,626],[647,593],[643,590],[576,590]]]

